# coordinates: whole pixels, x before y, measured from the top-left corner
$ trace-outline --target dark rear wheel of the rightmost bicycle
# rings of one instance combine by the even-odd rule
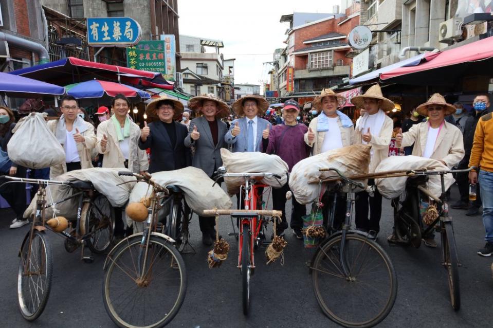
[[[419,226],[419,203],[416,193],[408,190],[394,198],[394,231],[397,238],[415,248],[421,246],[421,227]]]

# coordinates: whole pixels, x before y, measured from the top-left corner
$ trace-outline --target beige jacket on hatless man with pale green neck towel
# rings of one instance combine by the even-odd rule
[[[103,139],[103,135],[106,135],[108,138],[108,143],[104,152],[101,150],[101,140]],[[118,136],[111,119],[101,122],[98,125],[97,137],[98,142],[96,143],[96,149],[99,153],[104,155],[102,167],[124,168],[125,157],[120,150]],[[134,173],[147,171],[149,169],[147,154],[145,153],[145,150],[139,149],[139,138],[139,126],[133,122],[130,122],[129,170]]]

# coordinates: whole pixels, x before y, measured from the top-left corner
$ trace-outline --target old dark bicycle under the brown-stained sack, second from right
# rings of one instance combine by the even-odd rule
[[[319,181],[331,184],[333,204],[326,223],[326,238],[308,264],[315,297],[323,313],[344,327],[372,327],[384,320],[397,296],[397,276],[385,252],[367,232],[351,229],[355,190],[364,185],[334,168],[336,175]],[[335,224],[337,199],[345,194],[341,229]],[[317,206],[318,207],[318,206]],[[315,208],[314,211],[319,210]]]

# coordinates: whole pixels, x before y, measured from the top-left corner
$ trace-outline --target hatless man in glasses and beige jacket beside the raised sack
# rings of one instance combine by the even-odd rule
[[[77,115],[77,100],[65,96],[60,100],[60,108],[62,116],[58,120],[48,121],[48,127],[65,150],[65,163],[52,166],[50,178],[73,170],[92,168],[90,150],[96,147],[94,126]]]

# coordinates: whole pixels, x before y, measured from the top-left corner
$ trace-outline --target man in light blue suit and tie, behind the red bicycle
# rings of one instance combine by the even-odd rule
[[[261,152],[262,139],[269,138],[272,124],[258,114],[264,115],[269,103],[264,97],[248,95],[233,102],[232,107],[236,114],[244,117],[231,122],[224,141],[233,145],[233,152]],[[258,191],[262,194],[263,188]],[[238,208],[242,208],[242,198],[240,193],[236,194]]]

